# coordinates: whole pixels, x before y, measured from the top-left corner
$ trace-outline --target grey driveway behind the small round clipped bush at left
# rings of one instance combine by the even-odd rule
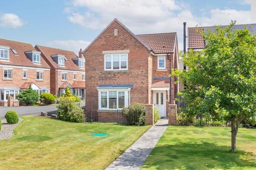
[[[84,102],[79,103],[80,106],[85,106]],[[19,107],[4,107],[0,106],[0,118],[4,118],[4,115],[7,111],[16,111],[19,116],[24,115],[37,115],[41,112],[53,112],[57,111],[57,108],[54,105],[48,106],[19,106]]]

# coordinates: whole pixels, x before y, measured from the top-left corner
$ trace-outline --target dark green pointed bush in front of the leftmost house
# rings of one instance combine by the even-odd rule
[[[38,99],[38,93],[31,88],[31,85],[22,92],[17,95],[17,98],[20,100],[21,103],[25,103],[26,105],[34,105]]]

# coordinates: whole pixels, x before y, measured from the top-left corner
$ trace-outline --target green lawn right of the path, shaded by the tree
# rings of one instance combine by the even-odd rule
[[[256,129],[240,128],[231,154],[230,128],[169,126],[142,169],[256,169]]]

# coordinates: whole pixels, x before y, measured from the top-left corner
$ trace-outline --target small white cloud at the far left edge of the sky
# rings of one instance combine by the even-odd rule
[[[23,21],[16,14],[4,13],[0,15],[0,27],[18,28],[23,24]]]

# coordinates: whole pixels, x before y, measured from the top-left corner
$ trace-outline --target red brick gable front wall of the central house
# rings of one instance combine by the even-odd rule
[[[114,29],[118,29],[118,36],[114,36]],[[104,72],[103,50],[130,50],[128,55],[128,71]],[[99,84],[134,84],[131,90],[131,103],[148,104],[149,78],[148,62],[150,52],[122,25],[116,21],[111,24],[102,35],[86,50],[86,107],[98,109]]]

